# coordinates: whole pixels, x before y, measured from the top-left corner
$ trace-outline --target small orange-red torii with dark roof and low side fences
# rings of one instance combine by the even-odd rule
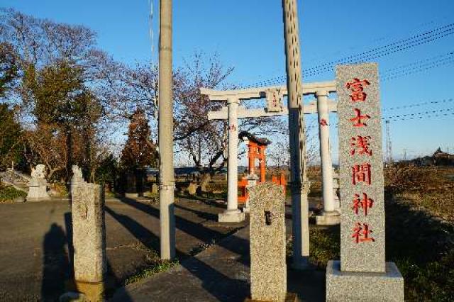
[[[260,167],[260,178],[258,179],[257,183],[261,184],[262,182],[266,181],[266,155],[265,150],[267,145],[270,145],[270,140],[266,138],[257,138],[255,135],[252,135],[246,131],[242,131],[238,138],[241,140],[248,140],[248,174],[254,175],[255,174],[255,160],[259,160],[259,167]],[[247,186],[249,185],[250,179],[244,177],[238,181],[238,191],[241,192],[241,195],[238,196],[238,203],[245,204],[249,199],[248,189]],[[285,179],[284,174],[281,174],[280,177],[272,176],[272,182],[275,184],[279,184],[284,189],[287,186],[287,181]]]

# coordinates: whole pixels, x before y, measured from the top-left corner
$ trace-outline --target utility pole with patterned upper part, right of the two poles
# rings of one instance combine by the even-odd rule
[[[293,267],[304,269],[309,259],[309,181],[302,101],[301,55],[297,0],[282,0],[289,108],[290,190],[292,192]]]

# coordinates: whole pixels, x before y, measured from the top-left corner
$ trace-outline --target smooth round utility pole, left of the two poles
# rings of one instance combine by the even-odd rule
[[[172,0],[160,0],[159,17],[159,210],[161,259],[175,258],[173,167]]]

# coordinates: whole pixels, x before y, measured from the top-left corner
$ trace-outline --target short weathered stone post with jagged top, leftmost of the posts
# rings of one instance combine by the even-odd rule
[[[72,245],[77,291],[89,301],[101,301],[106,273],[106,228],[104,196],[99,184],[84,181],[82,171],[72,166]]]

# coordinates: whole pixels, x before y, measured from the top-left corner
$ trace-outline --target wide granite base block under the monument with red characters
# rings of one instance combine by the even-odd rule
[[[326,301],[404,301],[404,278],[393,262],[386,273],[341,272],[341,262],[326,266]]]

